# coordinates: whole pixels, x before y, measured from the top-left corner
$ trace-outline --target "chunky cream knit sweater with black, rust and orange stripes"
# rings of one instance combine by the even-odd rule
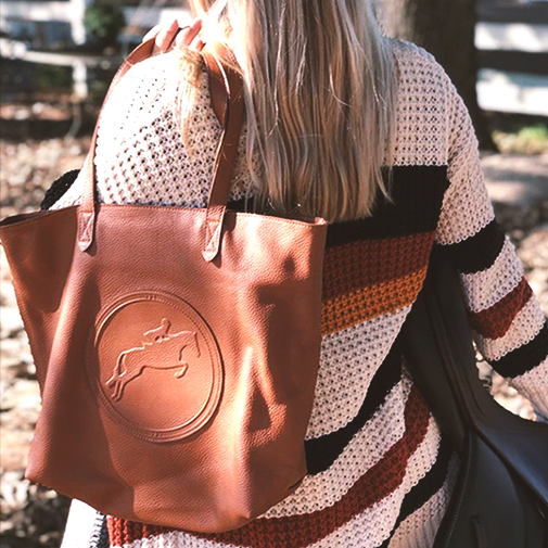
[[[479,349],[548,416],[547,322],[494,218],[467,110],[430,54],[397,41],[393,50],[399,86],[393,202],[328,230],[307,476],[266,514],[228,533],[193,534],[109,517],[111,546],[431,546],[450,496],[453,451],[394,342],[433,245],[447,247],[461,272]],[[221,129],[204,74],[189,153],[174,114],[178,69],[177,53],[146,60],[105,105],[95,157],[101,202],[206,204]],[[234,200],[253,194],[244,140]],[[82,180],[55,207],[77,203]],[[86,527],[71,520],[68,521],[64,546],[75,547],[73,533]]]

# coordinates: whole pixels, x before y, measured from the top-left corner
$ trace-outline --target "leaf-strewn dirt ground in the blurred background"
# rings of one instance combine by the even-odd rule
[[[81,166],[88,144],[88,138],[0,142],[1,217],[36,209],[52,180]],[[485,156],[483,164],[497,216],[515,243],[528,281],[548,314],[548,153],[496,154]],[[68,501],[23,477],[40,398],[3,250],[0,267],[1,546],[56,548]],[[497,400],[532,417],[527,402],[485,364],[481,372]]]

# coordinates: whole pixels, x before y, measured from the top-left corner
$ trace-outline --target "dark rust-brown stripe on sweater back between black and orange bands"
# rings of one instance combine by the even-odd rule
[[[434,232],[382,240],[362,240],[326,250],[323,298],[330,300],[422,269],[429,260]]]

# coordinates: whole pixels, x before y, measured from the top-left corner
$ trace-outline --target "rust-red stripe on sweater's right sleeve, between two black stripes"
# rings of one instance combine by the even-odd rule
[[[520,283],[498,303],[479,313],[470,311],[470,326],[482,336],[500,339],[508,332],[515,316],[532,295],[533,291],[523,277]]]

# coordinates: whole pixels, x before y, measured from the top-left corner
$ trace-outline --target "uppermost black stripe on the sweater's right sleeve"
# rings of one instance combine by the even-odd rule
[[[467,240],[447,245],[455,266],[462,273],[486,270],[500,254],[505,244],[505,232],[493,219],[486,227]]]

